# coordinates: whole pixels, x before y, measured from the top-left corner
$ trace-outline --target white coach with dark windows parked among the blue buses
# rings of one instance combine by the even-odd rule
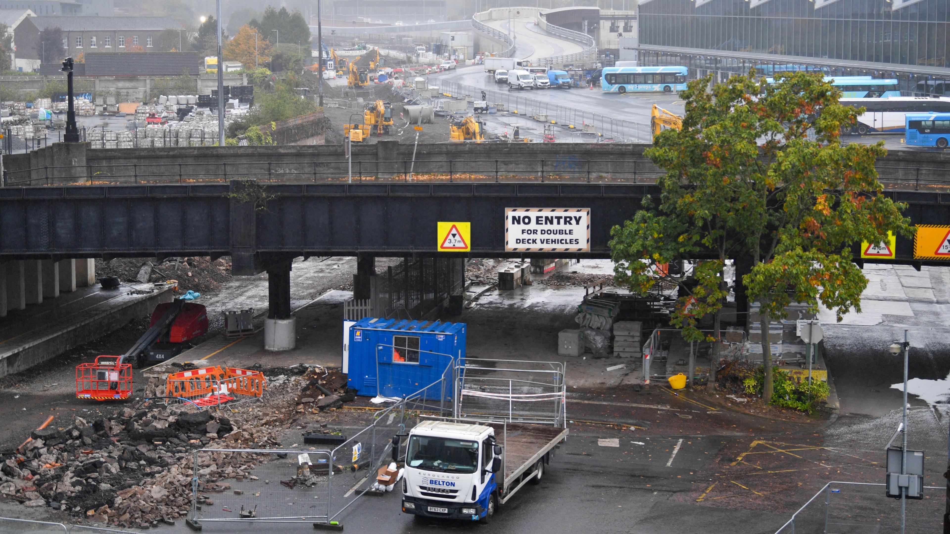
[[[864,107],[858,124],[842,128],[842,133],[903,133],[908,113],[950,113],[950,98],[897,96],[890,98],[843,98],[839,102]]]

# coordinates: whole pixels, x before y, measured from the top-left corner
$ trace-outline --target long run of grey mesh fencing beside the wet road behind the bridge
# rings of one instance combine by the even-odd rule
[[[554,122],[569,129],[580,129],[598,136],[597,141],[613,140],[621,143],[652,143],[653,131],[650,124],[639,124],[632,121],[614,119],[599,113],[584,111],[575,107],[554,104],[526,98],[511,91],[495,91],[484,87],[458,84],[444,79],[431,80],[429,83],[438,84],[439,92],[453,98],[465,96],[480,96],[485,92],[488,105],[504,105],[504,110],[510,113],[534,118],[542,123]],[[559,89],[532,89],[532,90],[559,90]],[[575,89],[567,89],[575,90]],[[511,133],[511,132],[509,132]],[[558,135],[557,133],[555,135]]]

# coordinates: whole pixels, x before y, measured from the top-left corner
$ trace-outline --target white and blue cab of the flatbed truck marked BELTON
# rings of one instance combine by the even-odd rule
[[[502,470],[502,448],[492,427],[423,421],[407,439],[404,512],[490,521],[498,506],[495,473]]]

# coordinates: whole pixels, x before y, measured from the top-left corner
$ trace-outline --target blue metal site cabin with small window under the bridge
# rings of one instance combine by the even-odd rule
[[[408,396],[465,357],[465,323],[365,317],[350,327],[348,376],[359,395]],[[427,398],[441,400],[440,389],[434,390]],[[450,396],[452,386],[445,391]]]

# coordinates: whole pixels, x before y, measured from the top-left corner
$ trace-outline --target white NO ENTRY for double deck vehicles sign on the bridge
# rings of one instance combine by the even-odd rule
[[[588,252],[590,208],[504,208],[504,250]]]

